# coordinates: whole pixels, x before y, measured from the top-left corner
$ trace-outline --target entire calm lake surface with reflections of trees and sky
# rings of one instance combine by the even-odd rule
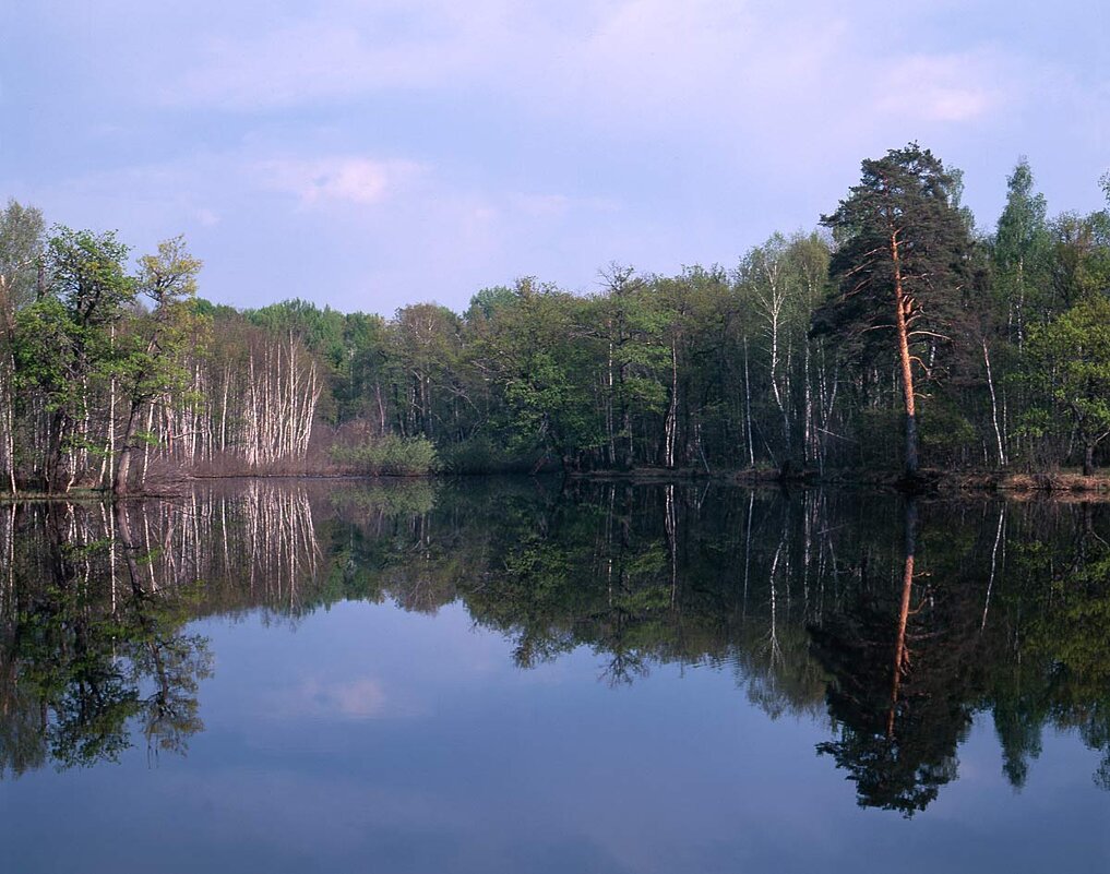
[[[0,507],[3,872],[1104,872],[1110,508]]]

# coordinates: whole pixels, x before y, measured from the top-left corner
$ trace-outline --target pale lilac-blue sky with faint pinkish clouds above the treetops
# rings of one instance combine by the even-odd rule
[[[1103,0],[10,0],[0,197],[184,234],[201,294],[392,315],[733,266],[917,141],[993,227],[1104,205]]]

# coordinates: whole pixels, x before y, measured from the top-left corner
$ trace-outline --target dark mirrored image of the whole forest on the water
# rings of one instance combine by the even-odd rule
[[[1110,514],[723,485],[252,480],[172,501],[0,507],[0,775],[183,753],[211,673],[190,621],[462,602],[522,669],[579,647],[622,685],[729,671],[860,805],[912,814],[977,715],[1006,776],[1048,729],[1110,785]]]

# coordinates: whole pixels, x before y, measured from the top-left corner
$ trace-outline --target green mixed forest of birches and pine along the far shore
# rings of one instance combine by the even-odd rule
[[[1110,174],[1101,180],[1110,206]],[[1110,209],[1050,215],[1021,160],[997,226],[910,143],[817,230],[674,276],[617,263],[463,313],[200,296],[183,238],[0,213],[4,490],[189,476],[750,470],[1086,475],[1110,458]],[[275,297],[280,295],[275,294]],[[367,301],[367,307],[373,305]]]

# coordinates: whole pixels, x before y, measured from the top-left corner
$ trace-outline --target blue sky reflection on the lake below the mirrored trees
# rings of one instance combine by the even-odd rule
[[[3,872],[1047,872],[1110,870],[1099,755],[1047,731],[1020,792],[989,719],[914,819],[865,810],[728,667],[529,670],[460,603],[339,602],[198,621],[214,675],[186,756],[0,782]]]

